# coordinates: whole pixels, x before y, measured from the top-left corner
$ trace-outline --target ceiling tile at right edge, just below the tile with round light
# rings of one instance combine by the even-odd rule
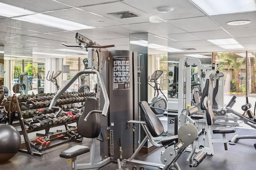
[[[227,30],[234,38],[255,37],[256,28],[229,29]]]

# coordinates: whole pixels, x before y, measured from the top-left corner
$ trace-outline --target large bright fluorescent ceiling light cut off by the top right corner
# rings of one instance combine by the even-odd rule
[[[254,0],[191,0],[209,16],[256,11]]]

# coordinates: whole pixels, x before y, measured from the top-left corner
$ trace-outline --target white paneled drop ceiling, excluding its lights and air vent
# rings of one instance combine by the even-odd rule
[[[208,16],[190,0],[0,0],[0,2],[95,27],[67,31],[15,20],[15,17],[0,16],[0,45],[5,45],[10,52],[24,48],[31,49],[29,53],[33,51],[67,56],[78,55],[78,53],[56,50],[66,49],[61,45],[62,42],[76,44],[76,32],[100,45],[116,45],[109,50],[128,50],[130,34],[145,32],[149,33],[149,43],[180,50],[195,49],[178,53],[227,51],[207,41],[223,38],[236,39],[245,47],[240,50],[256,49],[255,11]],[[169,13],[157,12],[156,8],[162,6],[172,7],[174,10]],[[110,15],[124,11],[138,14],[138,17],[120,19]],[[156,17],[159,22],[150,22],[150,17]],[[234,20],[250,20],[251,23],[227,25],[227,22]],[[75,47],[70,49],[82,50]],[[44,56],[34,54],[33,57]]]

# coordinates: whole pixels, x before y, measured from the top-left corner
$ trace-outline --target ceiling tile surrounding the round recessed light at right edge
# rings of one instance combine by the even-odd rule
[[[216,21],[221,27],[224,29],[239,29],[239,28],[250,28],[256,27],[256,12],[244,12],[244,13],[236,13],[236,14],[225,14],[218,16],[210,16],[214,21]],[[246,25],[228,25],[229,21],[237,21],[237,20],[250,20],[252,21]]]

